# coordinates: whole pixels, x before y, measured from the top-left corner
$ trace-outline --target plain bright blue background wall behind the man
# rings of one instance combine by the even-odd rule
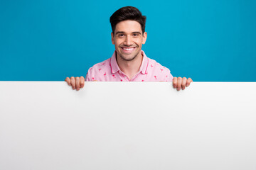
[[[64,81],[111,57],[110,16],[147,17],[142,50],[175,77],[256,81],[256,1],[0,0],[0,80]]]

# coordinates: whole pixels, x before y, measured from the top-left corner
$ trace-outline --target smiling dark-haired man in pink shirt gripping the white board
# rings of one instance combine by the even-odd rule
[[[135,7],[119,8],[110,17],[114,54],[108,60],[91,67],[86,78],[67,77],[73,89],[80,90],[86,81],[173,81],[177,91],[185,89],[191,78],[173,77],[170,70],[146,57],[142,44],[146,42],[146,16]]]

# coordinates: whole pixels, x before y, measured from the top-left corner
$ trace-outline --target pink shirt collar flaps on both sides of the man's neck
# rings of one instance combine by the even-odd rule
[[[146,69],[149,66],[149,58],[146,57],[146,54],[143,50],[141,50],[141,52],[142,52],[143,59],[142,59],[141,67],[139,68],[139,72],[142,72],[142,74],[146,74]],[[121,71],[121,69],[119,68],[119,66],[117,64],[116,51],[114,51],[114,54],[110,58],[110,67],[111,67],[112,73]]]

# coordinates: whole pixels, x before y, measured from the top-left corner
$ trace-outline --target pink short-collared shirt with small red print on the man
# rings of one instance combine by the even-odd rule
[[[143,60],[139,72],[129,79],[124,72],[119,69],[116,54],[111,58],[92,66],[86,75],[85,81],[172,81],[173,76],[166,67],[161,66],[155,60],[146,57],[142,51]]]

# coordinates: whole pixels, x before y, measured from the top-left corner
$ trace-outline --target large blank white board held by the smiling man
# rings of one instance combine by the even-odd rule
[[[256,169],[256,83],[0,82],[0,169]]]

